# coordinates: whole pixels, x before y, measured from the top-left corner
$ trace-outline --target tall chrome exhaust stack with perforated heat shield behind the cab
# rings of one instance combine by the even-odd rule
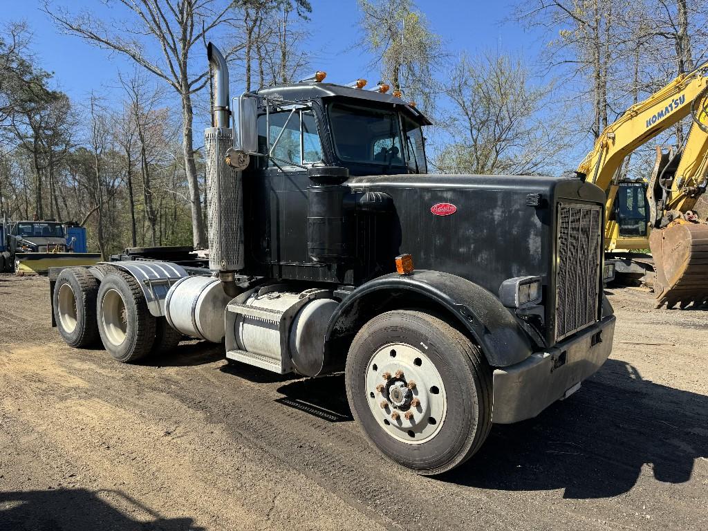
[[[219,272],[227,295],[239,290],[234,273],[244,268],[244,203],[241,171],[226,162],[234,132],[229,128],[229,67],[211,42],[207,57],[214,72],[215,98],[212,108],[215,127],[204,132],[207,183],[209,268]]]

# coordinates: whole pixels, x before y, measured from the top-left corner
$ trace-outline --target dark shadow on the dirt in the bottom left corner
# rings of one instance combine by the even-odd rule
[[[130,507],[130,515],[104,498]],[[139,520],[135,520],[135,518]],[[0,492],[0,531],[201,531],[192,518],[164,518],[120,491]]]

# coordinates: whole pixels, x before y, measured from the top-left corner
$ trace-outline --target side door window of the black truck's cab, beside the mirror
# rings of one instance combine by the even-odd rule
[[[321,161],[322,144],[311,110],[270,113],[270,127],[267,122],[265,115],[258,117],[258,151],[267,154],[270,145],[272,158],[268,159],[268,167],[302,166]]]

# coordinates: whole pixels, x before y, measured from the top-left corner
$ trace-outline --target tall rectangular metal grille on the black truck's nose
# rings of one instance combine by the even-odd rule
[[[556,341],[597,320],[601,221],[598,205],[558,204]]]

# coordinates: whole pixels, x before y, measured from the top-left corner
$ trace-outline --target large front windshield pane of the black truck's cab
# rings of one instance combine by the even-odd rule
[[[329,116],[340,159],[384,168],[404,166],[398,113],[333,103]]]

